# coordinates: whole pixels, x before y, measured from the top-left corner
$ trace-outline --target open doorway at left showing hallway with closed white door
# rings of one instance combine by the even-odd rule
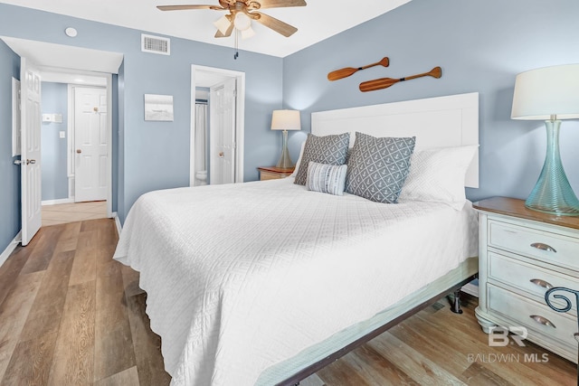
[[[107,214],[107,77],[43,71],[42,225]]]

